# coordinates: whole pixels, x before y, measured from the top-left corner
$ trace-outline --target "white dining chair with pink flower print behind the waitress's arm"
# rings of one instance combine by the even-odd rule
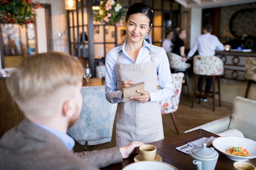
[[[173,119],[173,124],[175,126],[175,130],[177,134],[179,135],[179,129],[174,117],[174,112],[178,109],[179,103],[180,103],[180,95],[182,90],[182,79],[184,77],[184,73],[172,73],[172,82],[174,87],[174,94],[169,99],[160,102],[160,108],[161,108],[161,114],[171,114],[171,117]],[[159,77],[157,76],[157,89],[160,89],[159,84]]]

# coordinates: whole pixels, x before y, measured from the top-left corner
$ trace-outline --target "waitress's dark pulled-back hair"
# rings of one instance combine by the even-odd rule
[[[132,6],[130,6],[128,11],[126,12],[125,22],[127,23],[129,16],[135,13],[143,13],[149,19],[149,26],[153,24],[153,12],[150,7],[148,7],[148,5],[142,2],[132,4]]]

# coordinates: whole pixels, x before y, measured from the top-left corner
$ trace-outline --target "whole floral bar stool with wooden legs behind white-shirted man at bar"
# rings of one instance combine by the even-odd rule
[[[221,106],[220,100],[220,76],[223,74],[224,67],[223,62],[219,57],[216,56],[200,56],[196,55],[193,58],[193,73],[196,75],[195,77],[195,87],[192,99],[192,106],[194,104],[195,97],[199,97],[199,104],[200,98],[202,97],[213,97],[213,111],[215,111],[215,94],[219,95],[219,106]],[[202,91],[202,81],[200,86],[200,91],[197,91],[198,86],[198,79],[199,77],[204,78],[211,78],[212,79],[212,91]],[[218,80],[218,91],[216,91],[215,87],[215,78],[217,77]]]

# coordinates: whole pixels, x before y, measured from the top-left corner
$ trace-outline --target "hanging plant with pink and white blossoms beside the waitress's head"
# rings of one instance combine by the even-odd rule
[[[126,8],[115,0],[103,0],[93,9],[94,24],[124,26]]]

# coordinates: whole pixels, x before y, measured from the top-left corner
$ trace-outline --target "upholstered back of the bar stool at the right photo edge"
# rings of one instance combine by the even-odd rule
[[[245,78],[256,81],[256,58],[245,58]]]

